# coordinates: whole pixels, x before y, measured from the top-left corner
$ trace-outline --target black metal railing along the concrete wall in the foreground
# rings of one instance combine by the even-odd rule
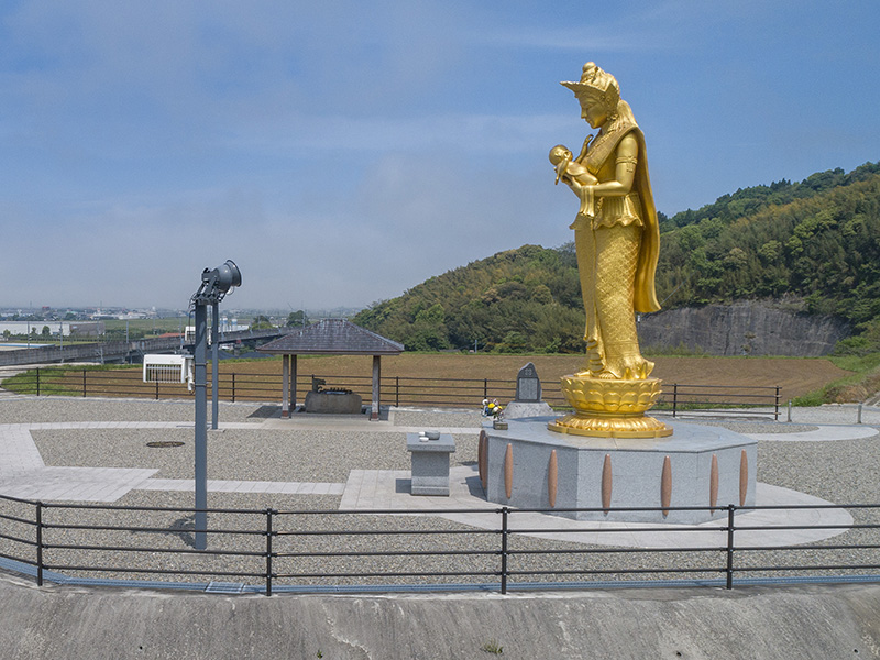
[[[818,513],[828,508],[846,509],[851,514],[847,519],[855,521],[749,525],[741,518],[756,510]],[[3,565],[34,575],[41,585],[46,580],[98,584],[135,580],[133,584],[143,586],[265,595],[282,591],[416,588],[507,593],[510,588],[670,583],[733,588],[755,582],[880,580],[880,505],[730,505],[721,509],[724,517],[713,528],[645,524],[585,529],[584,534],[609,539],[608,544],[600,546],[548,538],[557,532],[576,536],[579,532],[570,526],[529,529],[516,521],[519,516],[547,509],[211,508],[205,530],[208,549],[195,550],[191,537],[200,530],[190,524],[195,514],[191,508],[48,504],[0,497],[0,558]],[[616,510],[624,509],[610,509]],[[494,522],[475,528],[437,518],[465,513],[490,517]],[[826,537],[832,537],[828,532],[837,536],[780,546],[774,539],[782,530],[822,530]],[[613,544],[615,535],[634,532],[645,535],[645,547]],[[750,532],[751,540],[740,542],[744,532]],[[668,547],[651,543],[652,535],[660,534],[675,535],[681,541]],[[756,534],[766,541],[755,542]]]

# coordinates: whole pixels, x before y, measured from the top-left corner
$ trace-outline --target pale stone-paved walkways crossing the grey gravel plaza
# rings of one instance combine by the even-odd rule
[[[67,502],[117,502],[135,490],[143,491],[194,491],[193,480],[152,479],[153,469],[114,468],[64,468],[46,466],[34,443],[31,431],[44,429],[163,429],[193,428],[191,422],[44,422],[0,425],[0,494],[28,499]],[[221,429],[279,429],[332,428],[345,431],[351,428],[371,431],[406,433],[424,427],[400,427],[387,421],[365,422],[345,420],[336,424],[326,419],[279,420],[262,422],[221,424]],[[440,428],[444,433],[476,433],[475,428]],[[821,426],[805,433],[752,435],[765,441],[832,441],[865,438],[877,435],[877,429],[859,426]],[[403,447],[402,447],[403,451]],[[409,471],[403,470],[352,470],[348,482],[304,483],[209,480],[208,490],[216,493],[277,493],[297,495],[341,495],[340,509],[464,509],[454,514],[441,514],[442,518],[464,525],[494,529],[497,515],[468,509],[496,508],[487,503],[475,468],[455,466],[450,472],[449,497],[414,497],[410,495]],[[768,484],[758,484],[758,503],[767,505],[816,505],[825,501]],[[428,515],[428,514],[422,514]],[[529,529],[529,535],[563,541],[625,547],[685,547],[724,542],[718,528],[726,524],[716,520],[700,526],[669,526],[668,534],[638,532],[645,524],[578,521],[541,514],[515,514],[510,516],[512,529]],[[846,526],[853,522],[847,512],[829,509],[760,510],[738,515],[739,526]],[[698,529],[705,534],[680,534],[681,529]],[[740,531],[743,543],[787,546],[829,538],[839,534],[837,529],[774,530],[772,534]]]

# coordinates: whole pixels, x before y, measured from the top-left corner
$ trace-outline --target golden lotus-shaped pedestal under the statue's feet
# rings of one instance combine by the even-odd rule
[[[660,396],[660,380],[604,380],[562,376],[562,394],[574,413],[547,428],[558,433],[594,438],[666,438],[672,429],[645,413]]]

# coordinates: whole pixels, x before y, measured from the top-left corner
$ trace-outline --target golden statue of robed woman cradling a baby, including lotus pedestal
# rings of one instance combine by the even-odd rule
[[[563,145],[550,151],[557,183],[580,198],[574,244],[586,312],[586,362],[562,378],[573,415],[551,422],[556,431],[583,436],[661,437],[672,433],[645,417],[660,395],[649,378],[653,363],[639,350],[636,312],[658,311],[654,271],[660,229],[653,204],[645,135],[610,74],[583,67],[574,91],[581,117],[593,129],[578,157]]]

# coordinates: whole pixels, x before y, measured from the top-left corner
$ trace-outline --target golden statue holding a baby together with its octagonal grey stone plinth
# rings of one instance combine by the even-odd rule
[[[562,378],[572,414],[517,419],[509,410],[514,402],[507,429],[483,430],[477,466],[486,497],[521,508],[591,509],[559,513],[580,519],[682,524],[723,516],[727,504],[754,504],[755,440],[645,415],[660,395],[635,318],[660,309],[660,230],[645,135],[617,80],[592,62],[579,81],[562,85],[574,91],[581,117],[598,129],[578,156],[563,145],[550,151],[557,183],[580,200],[570,227],[586,359],[581,371]],[[532,365],[524,370],[529,366],[534,372]],[[530,373],[520,372],[517,399],[540,397]]]

